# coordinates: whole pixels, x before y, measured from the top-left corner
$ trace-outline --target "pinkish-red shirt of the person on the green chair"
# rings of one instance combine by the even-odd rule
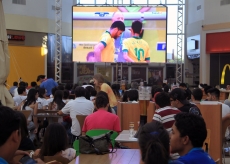
[[[85,118],[82,131],[87,132],[92,129],[108,129],[120,132],[120,119],[113,113],[109,113],[104,109],[98,109],[98,111]]]

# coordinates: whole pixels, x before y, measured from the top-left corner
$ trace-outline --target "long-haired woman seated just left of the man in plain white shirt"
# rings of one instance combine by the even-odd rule
[[[65,103],[62,101],[63,98],[63,91],[57,90],[54,94],[54,99],[49,105],[49,110],[61,110]]]

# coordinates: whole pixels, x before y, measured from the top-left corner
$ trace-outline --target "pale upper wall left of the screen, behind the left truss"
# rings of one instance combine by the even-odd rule
[[[26,5],[2,1],[7,29],[55,33],[55,0],[27,0]],[[62,35],[72,35],[72,5],[73,0],[62,1]]]

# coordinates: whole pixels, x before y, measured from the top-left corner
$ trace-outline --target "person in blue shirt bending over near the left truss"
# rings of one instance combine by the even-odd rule
[[[52,78],[47,79],[45,77],[46,77],[45,75],[39,75],[37,77],[37,82],[41,83],[40,88],[45,88],[47,90],[46,96],[50,96],[52,94],[51,93],[52,88],[57,87],[58,84]]]

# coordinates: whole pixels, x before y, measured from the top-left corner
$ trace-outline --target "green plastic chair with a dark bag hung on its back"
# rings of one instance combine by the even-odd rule
[[[86,135],[93,137],[93,136],[98,136],[101,134],[105,134],[107,132],[110,132],[111,130],[107,130],[107,129],[94,129],[94,130],[89,130],[86,132]],[[113,147],[115,147],[115,138],[118,136],[118,133],[113,131],[113,134],[110,136],[111,142]],[[76,155],[80,155],[80,151],[79,151],[79,140],[75,140],[73,143],[73,148],[76,150]]]

